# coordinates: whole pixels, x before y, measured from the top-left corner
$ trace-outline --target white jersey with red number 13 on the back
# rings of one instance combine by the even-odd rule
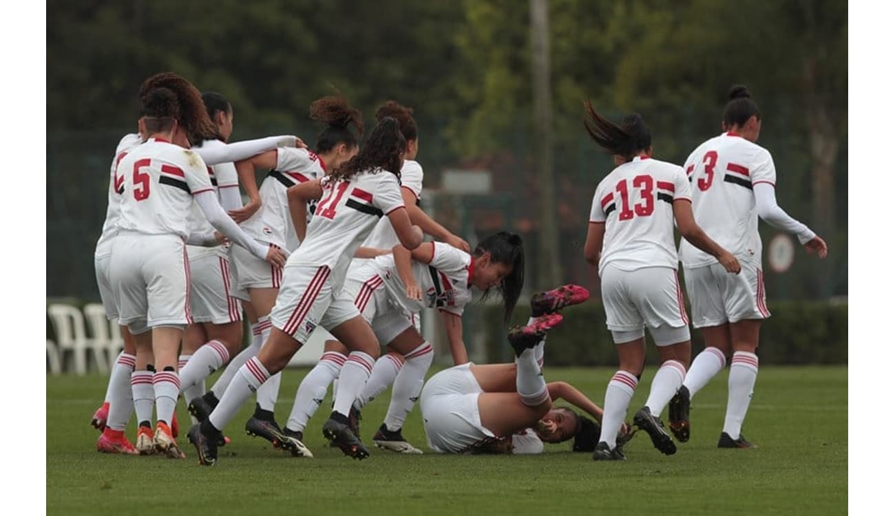
[[[678,165],[640,156],[603,178],[591,205],[591,223],[606,223],[600,274],[609,263],[626,271],[677,269],[676,199],[690,199],[690,184]]]

